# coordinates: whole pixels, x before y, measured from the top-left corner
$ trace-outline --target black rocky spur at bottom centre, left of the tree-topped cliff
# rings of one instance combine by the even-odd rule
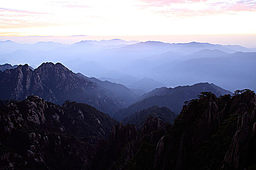
[[[133,170],[144,166],[152,169],[158,140],[167,129],[167,124],[155,117],[148,118],[138,132],[135,125],[120,122],[98,149],[93,169]]]

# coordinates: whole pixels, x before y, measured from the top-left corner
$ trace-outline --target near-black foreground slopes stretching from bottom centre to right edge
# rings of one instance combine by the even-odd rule
[[[94,159],[95,170],[254,170],[256,168],[256,95],[202,92],[183,105],[167,125],[148,118],[113,127]]]

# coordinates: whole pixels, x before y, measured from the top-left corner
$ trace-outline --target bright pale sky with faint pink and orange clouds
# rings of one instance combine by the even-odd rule
[[[255,36],[255,18],[256,0],[2,0],[0,36]]]

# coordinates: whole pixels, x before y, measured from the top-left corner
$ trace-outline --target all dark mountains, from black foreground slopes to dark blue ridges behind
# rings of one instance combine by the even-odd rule
[[[254,65],[254,53],[227,55],[248,70]],[[145,93],[60,63],[0,69],[0,170],[256,168],[256,95],[249,89],[232,95],[197,83]]]

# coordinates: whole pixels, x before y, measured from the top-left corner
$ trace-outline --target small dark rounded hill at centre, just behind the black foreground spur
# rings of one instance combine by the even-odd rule
[[[150,117],[158,118],[163,120],[163,122],[173,124],[177,115],[167,107],[152,106],[127,116],[122,121],[125,124],[134,124],[136,129],[140,130],[142,129],[146,120]]]

